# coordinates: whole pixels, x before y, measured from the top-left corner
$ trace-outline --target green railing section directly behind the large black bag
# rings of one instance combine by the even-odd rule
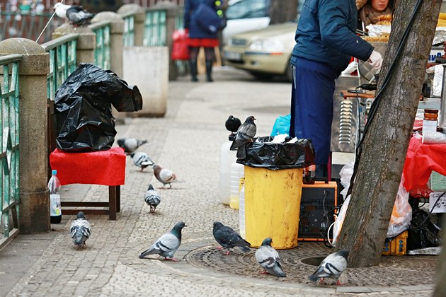
[[[47,94],[55,99],[57,88],[76,69],[76,43],[79,34],[68,34],[42,45],[50,54],[50,73],[47,75]]]

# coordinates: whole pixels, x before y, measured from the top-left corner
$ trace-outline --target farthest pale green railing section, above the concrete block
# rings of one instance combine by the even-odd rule
[[[143,45],[148,47],[167,44],[166,10],[151,9],[146,12]]]

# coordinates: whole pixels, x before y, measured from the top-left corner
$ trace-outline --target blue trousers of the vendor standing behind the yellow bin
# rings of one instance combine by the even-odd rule
[[[293,71],[290,136],[311,139],[316,165],[326,165],[330,155],[333,93],[338,76],[330,66],[302,58],[297,58]]]

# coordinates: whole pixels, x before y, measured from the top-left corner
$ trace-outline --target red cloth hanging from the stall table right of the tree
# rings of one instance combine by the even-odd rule
[[[411,138],[404,163],[404,187],[407,192],[425,192],[432,170],[446,175],[446,144],[422,144]]]

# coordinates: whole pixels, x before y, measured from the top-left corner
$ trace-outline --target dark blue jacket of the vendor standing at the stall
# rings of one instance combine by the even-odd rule
[[[355,0],[306,0],[297,25],[296,57],[327,64],[339,74],[350,57],[367,61],[374,47],[355,35],[358,11]]]

